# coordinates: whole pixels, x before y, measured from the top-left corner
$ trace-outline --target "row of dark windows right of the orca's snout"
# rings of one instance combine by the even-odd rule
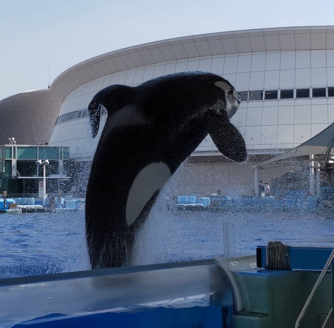
[[[334,97],[334,87],[238,92],[241,101]],[[312,94],[312,96],[310,96]]]

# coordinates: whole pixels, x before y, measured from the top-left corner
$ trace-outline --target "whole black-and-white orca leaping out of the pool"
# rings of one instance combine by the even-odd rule
[[[93,138],[101,105],[108,118],[86,194],[86,237],[93,269],[119,267],[132,256],[137,230],[161,187],[209,133],[218,150],[242,162],[245,143],[229,122],[240,103],[224,78],[182,72],[137,87],[113,85],[89,104]]]

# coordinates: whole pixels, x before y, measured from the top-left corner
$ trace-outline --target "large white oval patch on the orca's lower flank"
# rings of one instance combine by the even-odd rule
[[[131,186],[126,204],[126,222],[130,226],[137,219],[153,194],[170,178],[168,166],[162,162],[152,163],[143,168]]]

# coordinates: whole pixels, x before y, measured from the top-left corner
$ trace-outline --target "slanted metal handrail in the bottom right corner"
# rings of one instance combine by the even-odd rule
[[[329,319],[331,318],[331,327],[334,328],[334,317],[332,316],[332,313],[333,313],[333,307],[334,307],[334,261],[333,261],[333,258],[334,258],[334,249],[331,253],[331,255],[329,256],[324,268],[322,269],[321,273],[320,273],[320,276],[317,280],[317,282],[315,283],[314,287],[312,288],[312,291],[309,295],[309,297],[307,298],[306,302],[305,302],[305,305],[299,315],[299,317],[297,318],[297,321],[296,321],[296,324],[295,324],[295,328],[298,328],[299,327],[299,324],[300,322],[302,321],[303,317],[304,317],[304,314],[307,310],[307,308],[309,307],[311,301],[312,301],[312,298],[315,294],[315,292],[317,291],[322,279],[324,278],[328,268],[329,268],[329,265],[331,265],[331,309],[330,311],[328,312],[327,314],[327,317],[325,319],[325,322],[323,323],[322,327],[321,328],[325,328]]]

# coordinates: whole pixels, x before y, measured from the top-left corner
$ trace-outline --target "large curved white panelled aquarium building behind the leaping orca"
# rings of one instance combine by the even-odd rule
[[[249,156],[242,164],[230,162],[206,137],[178,174],[180,193],[221,189],[226,195],[251,195],[256,164],[334,122],[333,26],[230,31],[120,49],[62,72],[50,88],[60,107],[49,145],[69,146],[70,158],[89,167],[99,138],[91,137],[87,107],[99,90],[197,70],[223,76],[240,93],[242,102],[231,121],[243,135]],[[102,128],[103,123],[98,136]],[[265,182],[291,170],[295,166],[268,167],[260,178]]]

